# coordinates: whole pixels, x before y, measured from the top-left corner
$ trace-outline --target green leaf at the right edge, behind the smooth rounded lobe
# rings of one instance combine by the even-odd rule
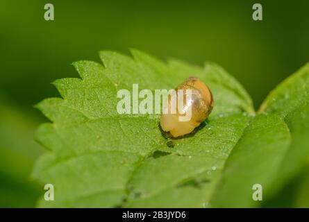
[[[309,155],[309,63],[267,96],[260,112],[278,114],[290,129],[292,141],[278,172],[278,183],[299,173]]]

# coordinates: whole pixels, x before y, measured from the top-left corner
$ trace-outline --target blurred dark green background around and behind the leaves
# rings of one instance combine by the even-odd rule
[[[53,22],[44,20],[45,3],[55,7]],[[251,18],[253,3],[263,6],[262,22]],[[33,131],[46,119],[33,105],[58,96],[53,80],[78,76],[72,62],[99,62],[97,51],[128,53],[131,47],[163,60],[211,60],[244,85],[258,108],[271,89],[309,61],[308,15],[305,0],[1,0],[0,207],[33,207],[42,194],[30,174],[43,152]],[[304,172],[290,186],[297,194],[269,205],[308,207]]]

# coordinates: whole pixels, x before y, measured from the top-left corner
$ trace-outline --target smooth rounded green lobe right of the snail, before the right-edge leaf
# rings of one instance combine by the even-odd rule
[[[249,207],[257,205],[252,199],[253,185],[262,185],[265,196],[274,191],[272,182],[290,144],[290,132],[276,115],[258,115],[244,130],[233,148],[217,194],[215,207]]]

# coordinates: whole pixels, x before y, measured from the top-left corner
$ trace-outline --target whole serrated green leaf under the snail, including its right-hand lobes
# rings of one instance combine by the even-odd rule
[[[103,51],[103,65],[74,62],[81,78],[56,80],[62,99],[37,105],[51,123],[40,126],[36,140],[50,152],[37,160],[33,176],[55,187],[55,200],[42,199],[40,207],[250,207],[256,204],[253,184],[270,195],[275,181],[280,187],[301,167],[308,84],[299,79],[308,68],[278,87],[256,115],[244,88],[218,65],[165,64],[137,50],[132,54]],[[117,90],[132,91],[135,83],[140,90],[173,89],[192,75],[215,100],[194,133],[167,139],[159,114],[117,113]],[[299,89],[303,99],[298,95],[297,102]],[[290,111],[282,94],[292,100]],[[281,170],[290,162],[287,153],[293,171]]]

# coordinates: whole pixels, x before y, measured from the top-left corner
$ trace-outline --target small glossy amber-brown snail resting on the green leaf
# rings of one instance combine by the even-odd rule
[[[183,90],[179,90],[183,89]],[[190,89],[190,90],[188,90]],[[178,101],[177,92],[183,91],[185,95],[183,98],[183,107],[179,108],[177,105],[176,112],[167,112],[172,110],[172,101]],[[213,98],[210,89],[197,77],[190,77],[184,83],[178,85],[174,94],[169,94],[165,112],[162,113],[160,119],[160,126],[165,132],[169,132],[172,137],[180,137],[191,133],[194,128],[199,126],[210,114],[213,108]],[[190,99],[188,99],[190,98]],[[186,112],[190,113],[190,119],[181,121],[180,117]]]

